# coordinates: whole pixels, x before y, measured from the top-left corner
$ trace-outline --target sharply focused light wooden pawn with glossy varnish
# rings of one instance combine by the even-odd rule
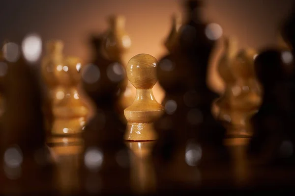
[[[157,64],[158,61],[154,57],[138,54],[132,57],[126,66],[127,77],[136,88],[136,96],[133,103],[124,110],[128,122],[125,140],[157,139],[153,122],[164,112],[164,107],[155,100],[152,92],[152,87],[157,82]]]

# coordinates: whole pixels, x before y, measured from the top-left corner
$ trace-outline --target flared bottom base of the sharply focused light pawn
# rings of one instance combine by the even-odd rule
[[[124,140],[129,141],[154,141],[158,135],[153,123],[127,123]]]

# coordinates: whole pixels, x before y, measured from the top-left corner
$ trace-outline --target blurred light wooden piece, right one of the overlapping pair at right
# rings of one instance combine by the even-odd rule
[[[229,136],[252,136],[248,129],[249,119],[258,111],[262,97],[261,86],[254,71],[255,55],[253,50],[241,50],[232,63],[236,84],[232,89],[234,100],[231,102],[234,111],[231,123],[234,129],[233,132],[228,132]]]

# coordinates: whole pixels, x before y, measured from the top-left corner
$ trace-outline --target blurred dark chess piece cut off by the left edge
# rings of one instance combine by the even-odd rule
[[[7,43],[8,56],[10,52],[20,52],[19,47]],[[0,70],[0,92],[5,104],[0,123],[1,194],[52,195],[54,167],[45,145],[37,77],[23,57],[14,63],[2,61]]]

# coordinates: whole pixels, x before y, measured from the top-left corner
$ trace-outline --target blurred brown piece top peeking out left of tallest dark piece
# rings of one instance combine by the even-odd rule
[[[166,38],[164,45],[168,51],[172,51],[177,47],[178,30],[181,26],[181,18],[177,15],[172,16],[172,27],[168,37]]]

